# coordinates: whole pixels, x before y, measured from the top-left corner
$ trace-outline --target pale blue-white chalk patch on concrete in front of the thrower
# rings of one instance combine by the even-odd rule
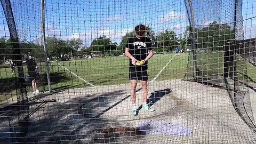
[[[165,134],[165,135],[190,135],[192,130],[180,124],[171,123],[170,121],[153,121],[146,120],[140,124],[139,129],[146,134]]]

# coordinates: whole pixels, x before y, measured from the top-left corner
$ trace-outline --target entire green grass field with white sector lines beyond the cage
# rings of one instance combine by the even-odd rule
[[[149,81],[155,78],[156,81],[166,79],[183,78],[185,75],[191,77],[191,65],[188,65],[189,54],[174,53],[155,54],[149,60]],[[240,59],[239,63],[244,63]],[[45,63],[37,63],[45,69]],[[202,76],[223,74],[223,52],[198,52],[197,66],[202,70]],[[246,62],[247,75],[256,81],[256,68]],[[23,69],[27,74],[27,66]],[[243,68],[240,68],[243,70]],[[52,89],[59,87],[89,87],[102,85],[115,85],[129,83],[129,60],[127,57],[105,57],[92,59],[76,59],[69,61],[53,61],[50,63]],[[42,71],[45,77],[45,71]],[[9,66],[0,68],[1,79],[10,79],[14,76]],[[244,78],[244,77],[243,77]],[[28,85],[31,92],[31,86]],[[44,79],[39,85],[40,91],[46,91],[47,81]],[[0,101],[13,97],[15,90],[7,93],[0,93]]]

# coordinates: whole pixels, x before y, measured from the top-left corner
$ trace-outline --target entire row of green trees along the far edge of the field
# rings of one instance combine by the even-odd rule
[[[217,21],[209,23],[207,26],[195,28],[195,40],[197,49],[216,49],[220,50],[226,39],[235,38],[234,28],[227,24],[220,24]],[[46,37],[46,47],[49,57],[62,58],[64,55],[71,54],[114,54],[123,53],[127,38],[133,37],[134,31],[126,33],[122,37],[119,45],[113,43],[110,37],[100,36],[94,38],[90,46],[84,46],[81,39],[64,40],[57,37]],[[179,50],[187,49],[191,46],[191,30],[187,27],[185,32],[177,35],[175,31],[166,29],[156,33],[147,27],[147,36],[153,42],[156,52],[170,52],[174,51],[175,47]],[[28,52],[34,53],[35,57],[44,58],[44,50],[42,44],[27,42],[26,39],[19,43],[21,54],[26,55]],[[82,51],[78,51],[82,47]],[[0,60],[11,59],[13,56],[13,47],[11,39],[0,38]]]

